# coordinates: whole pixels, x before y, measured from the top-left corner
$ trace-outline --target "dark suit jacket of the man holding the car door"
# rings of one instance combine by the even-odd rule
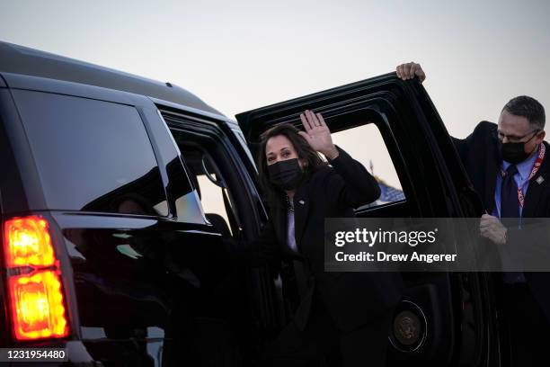
[[[453,138],[470,181],[480,194],[489,214],[492,214],[495,207],[494,188],[502,161],[496,130],[495,123],[482,121],[466,139]],[[546,141],[543,143],[546,146],[546,157],[537,175],[529,181],[523,218],[550,217],[550,157],[547,157],[550,154],[550,145]],[[538,177],[543,177],[544,181],[537,183]],[[546,317],[550,319],[550,273],[525,273],[525,277],[533,295],[545,310]]]

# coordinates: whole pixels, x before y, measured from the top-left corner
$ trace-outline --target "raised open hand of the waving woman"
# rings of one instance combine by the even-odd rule
[[[331,131],[326,126],[321,113],[306,110],[300,114],[300,119],[306,131],[300,131],[299,134],[306,139],[311,148],[324,154],[329,160],[338,157],[338,149],[333,144]]]

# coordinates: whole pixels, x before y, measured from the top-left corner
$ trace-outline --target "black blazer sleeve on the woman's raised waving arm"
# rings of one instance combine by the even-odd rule
[[[358,208],[380,197],[377,180],[368,173],[365,166],[337,147],[338,157],[330,163],[333,170],[326,176],[324,188],[326,198],[340,206]]]

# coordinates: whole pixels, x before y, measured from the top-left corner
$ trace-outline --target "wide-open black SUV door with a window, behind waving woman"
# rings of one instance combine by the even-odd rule
[[[377,177],[381,198],[363,218],[479,218],[483,206],[430,97],[395,73],[243,112],[236,119],[257,155],[263,131],[321,112],[333,141]],[[321,245],[320,245],[321,246]],[[490,277],[484,273],[404,273],[404,300],[388,330],[388,365],[498,363]]]

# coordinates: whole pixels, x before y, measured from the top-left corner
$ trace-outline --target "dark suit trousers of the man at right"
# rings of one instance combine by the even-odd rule
[[[504,310],[510,335],[511,365],[541,365],[548,358],[550,325],[528,284],[504,284]]]

